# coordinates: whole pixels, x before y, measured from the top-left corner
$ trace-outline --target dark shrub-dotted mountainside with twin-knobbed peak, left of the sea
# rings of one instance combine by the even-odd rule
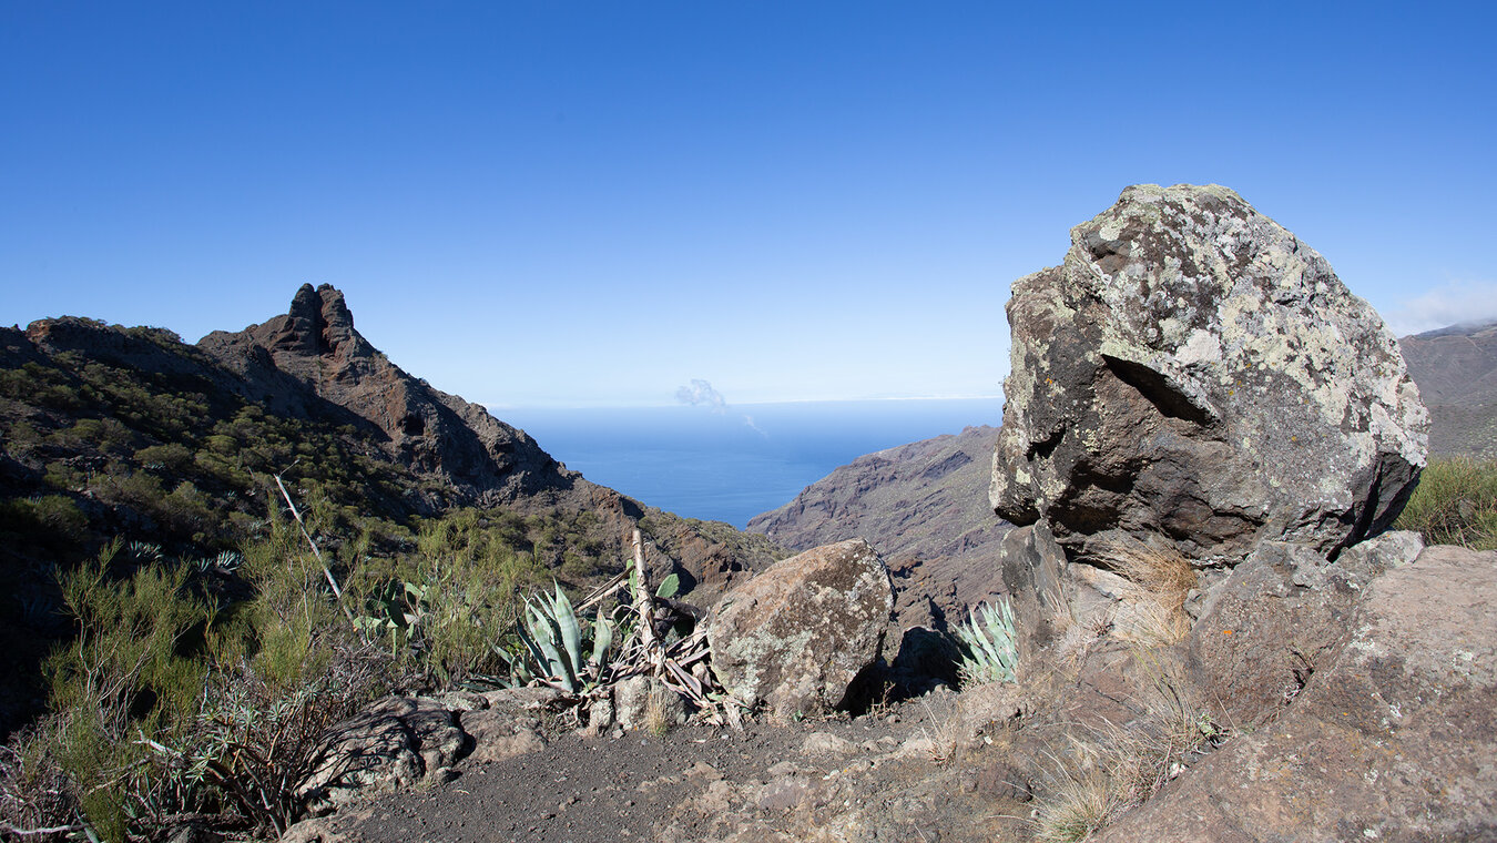
[[[0,603],[0,666],[27,680],[0,689],[0,728],[34,708],[37,663],[69,632],[58,569],[115,536],[145,554],[232,556],[283,511],[277,475],[335,566],[355,562],[344,545],[410,557],[422,523],[460,509],[545,579],[576,587],[617,573],[635,529],[653,575],[678,573],[704,603],[786,556],[566,470],[524,431],[391,362],[331,286],[302,286],[286,314],[198,344],[39,320],[0,329],[0,588],[16,597]]]

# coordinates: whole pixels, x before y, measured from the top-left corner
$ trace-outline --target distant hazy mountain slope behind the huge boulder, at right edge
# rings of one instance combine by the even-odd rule
[[[1398,340],[1430,407],[1430,454],[1497,457],[1497,322]]]

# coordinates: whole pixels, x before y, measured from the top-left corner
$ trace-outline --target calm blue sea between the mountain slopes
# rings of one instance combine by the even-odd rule
[[[976,424],[1001,398],[494,410],[552,457],[650,506],[743,527],[853,458]]]

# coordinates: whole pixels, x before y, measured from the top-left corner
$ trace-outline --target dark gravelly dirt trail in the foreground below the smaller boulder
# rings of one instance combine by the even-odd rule
[[[955,695],[861,717],[579,737],[379,797],[289,840],[1016,840],[1022,806]],[[963,738],[960,731],[967,729]],[[981,726],[979,726],[981,729]],[[991,734],[991,732],[990,732]],[[1007,816],[1004,816],[1007,815]]]

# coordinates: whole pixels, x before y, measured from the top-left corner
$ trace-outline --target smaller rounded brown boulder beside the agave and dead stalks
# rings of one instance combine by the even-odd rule
[[[868,542],[808,550],[723,596],[707,627],[713,672],[775,717],[828,711],[877,662],[891,611],[894,584]]]

